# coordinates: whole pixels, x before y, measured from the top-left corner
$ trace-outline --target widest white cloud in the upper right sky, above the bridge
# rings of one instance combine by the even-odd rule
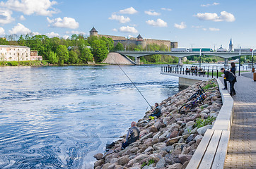
[[[222,11],[221,15],[217,15],[217,13],[197,13],[194,15],[195,17],[199,18],[199,20],[212,20],[214,22],[233,22],[235,21],[235,16],[232,13],[228,13],[226,11]]]

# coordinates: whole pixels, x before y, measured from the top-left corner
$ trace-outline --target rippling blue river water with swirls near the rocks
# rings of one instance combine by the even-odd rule
[[[179,90],[159,65],[122,69],[151,105]],[[149,108],[117,65],[1,67],[0,77],[0,168],[93,168]]]

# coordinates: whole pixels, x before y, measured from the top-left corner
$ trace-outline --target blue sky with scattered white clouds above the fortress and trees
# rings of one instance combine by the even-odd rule
[[[256,49],[253,0],[0,0],[0,37],[100,35],[165,39],[182,48]]]

